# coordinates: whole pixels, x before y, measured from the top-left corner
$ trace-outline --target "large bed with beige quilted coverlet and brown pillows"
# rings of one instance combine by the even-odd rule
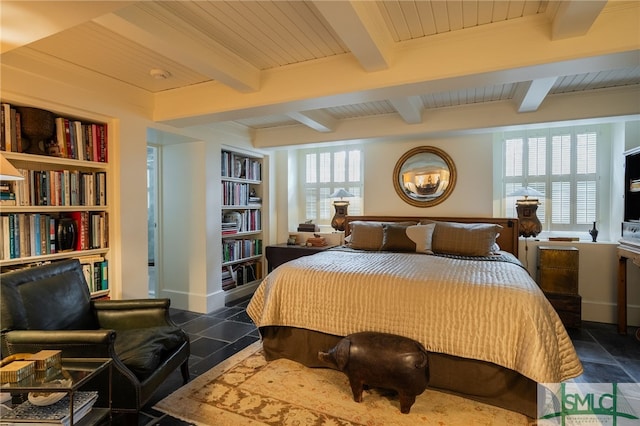
[[[358,331],[421,342],[429,387],[536,417],[537,383],[582,373],[571,340],[517,259],[518,221],[347,218],[344,246],[280,265],[247,313],[267,359],[329,367]]]

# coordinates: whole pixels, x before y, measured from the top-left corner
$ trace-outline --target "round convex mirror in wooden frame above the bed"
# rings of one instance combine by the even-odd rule
[[[407,203],[416,207],[440,204],[453,191],[456,168],[446,152],[421,146],[405,153],[393,169],[393,187]]]

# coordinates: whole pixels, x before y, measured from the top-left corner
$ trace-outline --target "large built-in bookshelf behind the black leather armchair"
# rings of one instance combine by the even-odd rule
[[[0,271],[77,258],[92,297],[108,297],[108,124],[8,101],[0,118],[0,151],[24,178],[0,181]]]

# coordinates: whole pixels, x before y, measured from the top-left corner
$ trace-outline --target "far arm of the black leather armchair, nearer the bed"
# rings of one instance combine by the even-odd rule
[[[100,328],[175,326],[169,317],[169,299],[95,300],[91,304]]]

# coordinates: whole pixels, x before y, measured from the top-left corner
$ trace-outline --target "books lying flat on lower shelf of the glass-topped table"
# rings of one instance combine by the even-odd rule
[[[35,394],[35,393],[34,393]],[[98,399],[98,392],[75,392],[73,394],[73,423],[86,416]],[[0,418],[2,426],[31,426],[36,423],[71,425],[69,395],[51,405],[36,405],[25,401],[5,412]]]

